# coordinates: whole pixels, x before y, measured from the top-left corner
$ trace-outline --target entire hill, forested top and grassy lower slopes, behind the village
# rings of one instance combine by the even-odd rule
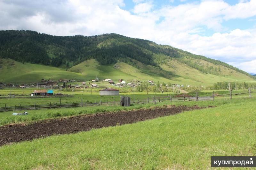
[[[252,81],[227,63],[118,34],[52,36],[0,31],[0,81],[140,79],[191,85]]]

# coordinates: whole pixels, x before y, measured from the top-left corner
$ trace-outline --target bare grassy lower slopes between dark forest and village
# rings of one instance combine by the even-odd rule
[[[218,81],[253,80],[240,72],[232,71],[223,66],[220,67],[222,75],[213,75],[202,73],[175,59],[163,63],[161,65],[162,70],[136,60],[132,60],[132,62],[136,64],[131,66],[124,62],[117,62],[113,65],[101,65],[95,59],[91,59],[79,63],[66,71],[60,67],[31,63],[22,64],[12,59],[0,59],[0,81],[21,83],[37,82],[41,79],[59,80],[60,78],[84,81],[94,79],[97,76],[100,79],[111,78],[115,80],[122,78],[125,81],[139,79],[141,81],[153,80],[160,83],[171,82],[184,85],[212,85]]]

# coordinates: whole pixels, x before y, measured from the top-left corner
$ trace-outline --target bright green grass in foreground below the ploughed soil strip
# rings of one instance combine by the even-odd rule
[[[222,98],[216,102],[220,103],[215,108],[4,145],[0,147],[0,166],[207,169],[211,167],[211,156],[255,155],[255,99]]]

